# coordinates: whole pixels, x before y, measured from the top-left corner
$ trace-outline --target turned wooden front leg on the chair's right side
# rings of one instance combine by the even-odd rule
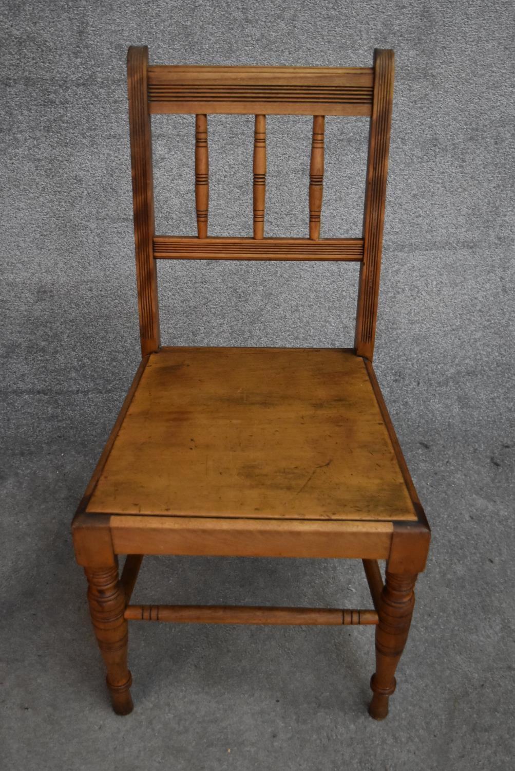
[[[376,672],[370,681],[373,697],[369,712],[376,720],[386,718],[388,699],[395,691],[395,670],[406,645],[415,604],[415,581],[416,574],[386,571],[376,626]]]

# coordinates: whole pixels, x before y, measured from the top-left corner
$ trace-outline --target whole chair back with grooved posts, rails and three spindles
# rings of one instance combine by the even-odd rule
[[[311,260],[360,263],[356,354],[372,359],[393,99],[393,51],[376,49],[373,67],[149,66],[146,46],[128,54],[136,276],[142,355],[159,349],[156,259]],[[156,235],[152,114],[195,120],[197,236]],[[209,114],[253,114],[252,237],[209,237]],[[266,238],[266,115],[312,115],[309,237]],[[369,116],[361,237],[320,238],[325,116]]]

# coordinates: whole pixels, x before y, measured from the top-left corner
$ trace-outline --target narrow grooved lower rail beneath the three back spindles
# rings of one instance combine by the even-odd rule
[[[156,260],[293,260],[346,261],[363,259],[361,238],[220,238],[156,236]]]

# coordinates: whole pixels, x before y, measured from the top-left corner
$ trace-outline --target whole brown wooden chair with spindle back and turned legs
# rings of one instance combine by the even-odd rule
[[[132,710],[129,620],[367,624],[376,625],[369,711],[382,719],[430,541],[371,363],[393,51],[376,50],[372,68],[333,69],[149,66],[147,49],[131,47],[128,71],[142,362],[72,525],[115,712]],[[154,232],[155,113],[196,115],[198,237]],[[207,113],[256,116],[253,238],[208,237]],[[309,238],[263,237],[267,113],[314,116]],[[370,116],[359,238],[319,238],[326,115]],[[355,347],[162,347],[158,259],[357,261]],[[144,554],[359,558],[374,609],[130,604]]]

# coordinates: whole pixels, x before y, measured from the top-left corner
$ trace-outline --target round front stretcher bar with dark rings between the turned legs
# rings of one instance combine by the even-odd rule
[[[239,605],[129,605],[128,621],[176,624],[269,624],[287,626],[375,625],[376,611],[337,608],[269,608]]]

